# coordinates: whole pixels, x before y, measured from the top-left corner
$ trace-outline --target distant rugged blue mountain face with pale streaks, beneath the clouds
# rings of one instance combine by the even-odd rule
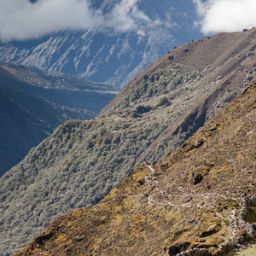
[[[91,6],[106,15],[121,2],[94,0]],[[147,22],[138,24],[140,32],[114,32],[100,26],[88,31],[56,32],[38,39],[10,41],[0,44],[0,61],[38,67],[54,74],[69,73],[122,88],[175,45],[202,36],[192,26],[195,7],[186,0],[139,1],[137,9],[148,17]]]

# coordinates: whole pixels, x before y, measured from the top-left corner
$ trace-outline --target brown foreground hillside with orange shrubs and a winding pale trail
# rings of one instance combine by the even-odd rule
[[[55,219],[15,255],[211,256],[255,240],[255,99],[256,77],[182,147],[138,166],[96,206]]]

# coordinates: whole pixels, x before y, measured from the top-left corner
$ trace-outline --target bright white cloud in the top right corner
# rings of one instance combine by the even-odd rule
[[[238,32],[256,26],[255,0],[193,0],[201,32]]]

